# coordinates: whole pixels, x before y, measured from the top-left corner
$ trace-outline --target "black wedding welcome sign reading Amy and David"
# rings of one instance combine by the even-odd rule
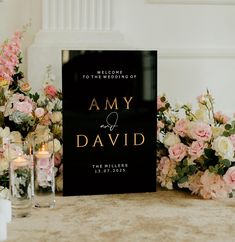
[[[62,51],[64,195],[156,191],[157,51]]]

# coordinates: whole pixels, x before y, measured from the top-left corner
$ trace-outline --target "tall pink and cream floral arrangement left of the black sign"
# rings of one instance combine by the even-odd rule
[[[30,84],[20,71],[23,33],[0,45],[0,187],[9,182],[9,151],[6,138],[17,142],[37,135],[54,135],[56,188],[62,190],[62,93],[53,85],[51,68],[48,67],[42,93],[31,92]],[[10,151],[11,152],[11,151]],[[14,152],[14,147],[12,147]]]

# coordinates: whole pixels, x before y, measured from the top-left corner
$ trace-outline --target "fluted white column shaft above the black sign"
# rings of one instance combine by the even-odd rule
[[[44,31],[111,31],[112,0],[42,0]]]

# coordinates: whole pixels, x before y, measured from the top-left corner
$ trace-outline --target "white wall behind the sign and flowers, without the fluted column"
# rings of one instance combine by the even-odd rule
[[[235,5],[227,3],[234,4],[235,1],[161,1],[178,1],[181,4],[157,4],[158,0],[151,1],[152,4],[148,0],[112,0],[109,32],[112,38],[109,41],[113,43],[116,38],[114,33],[120,33],[118,37],[124,38],[123,42],[120,41],[120,48],[158,49],[159,93],[166,93],[173,102],[191,102],[208,88],[216,98],[217,109],[233,113]],[[187,2],[203,4],[182,4]],[[207,5],[207,2],[217,4]],[[26,35],[25,43],[29,45],[41,26],[40,14],[40,0],[3,0],[0,3],[0,36],[8,36],[31,16],[33,27]],[[106,43],[110,37],[105,34],[107,31],[41,31],[29,51],[30,65],[27,66],[30,67],[31,81],[38,87],[45,66],[50,63],[54,66],[57,84],[60,85],[59,49],[64,48],[67,42],[68,48],[102,48],[101,42]],[[109,46],[112,45],[109,43]],[[118,41],[113,46],[117,48]]]

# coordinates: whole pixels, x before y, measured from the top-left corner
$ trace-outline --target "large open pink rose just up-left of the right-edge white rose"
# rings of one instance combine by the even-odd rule
[[[195,122],[191,128],[190,134],[193,139],[198,141],[209,141],[212,136],[210,125],[201,122]]]

